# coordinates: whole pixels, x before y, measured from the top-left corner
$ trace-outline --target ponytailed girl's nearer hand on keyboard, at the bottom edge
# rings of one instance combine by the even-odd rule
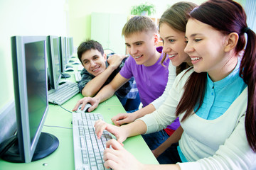
[[[104,151],[103,159],[105,161],[104,166],[107,169],[145,169],[144,164],[140,163],[114,139],[107,141],[107,148]]]

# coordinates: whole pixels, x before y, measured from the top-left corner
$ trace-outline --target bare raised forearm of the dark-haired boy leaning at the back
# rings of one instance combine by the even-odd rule
[[[105,84],[110,75],[114,72],[113,67],[107,67],[104,72],[89,81],[82,89],[82,96],[95,96],[100,88]]]

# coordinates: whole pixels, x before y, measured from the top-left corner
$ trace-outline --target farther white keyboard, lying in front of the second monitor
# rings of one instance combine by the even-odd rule
[[[65,84],[58,86],[58,89],[51,89],[48,91],[48,101],[50,103],[62,105],[78,93],[78,84],[75,82],[67,81]]]

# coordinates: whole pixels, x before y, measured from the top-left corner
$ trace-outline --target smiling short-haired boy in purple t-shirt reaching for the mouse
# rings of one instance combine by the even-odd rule
[[[86,103],[92,104],[88,111],[93,111],[100,102],[110,98],[131,77],[134,77],[136,81],[143,106],[147,106],[163,94],[168,81],[169,60],[164,62],[166,66],[164,67],[161,64],[163,56],[156,51],[159,35],[155,23],[149,17],[135,16],[124,25],[122,35],[124,35],[125,44],[130,55],[124,67],[110,84],[104,86],[95,97],[80,99],[73,111],[76,111],[80,104],[84,108]],[[160,131],[159,134],[161,135],[163,132],[164,130]],[[156,137],[161,142],[169,137],[166,132],[164,133],[164,137],[160,137],[160,135]]]

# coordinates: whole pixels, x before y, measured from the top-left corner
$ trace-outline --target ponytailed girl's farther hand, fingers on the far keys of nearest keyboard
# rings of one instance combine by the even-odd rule
[[[98,139],[100,139],[103,130],[107,130],[108,132],[112,133],[115,137],[117,137],[117,141],[121,145],[123,145],[122,142],[124,142],[124,140],[127,139],[127,135],[125,135],[121,127],[105,123],[105,121],[103,120],[97,120],[95,122],[95,133]]]

